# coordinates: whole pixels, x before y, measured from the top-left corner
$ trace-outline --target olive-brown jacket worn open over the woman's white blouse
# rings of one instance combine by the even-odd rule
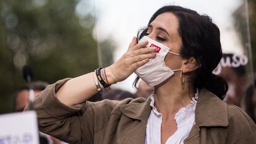
[[[69,143],[144,144],[150,99],[86,101],[70,107],[55,95],[66,81],[49,85],[33,103],[41,132]],[[254,144],[256,125],[242,109],[227,105],[202,89],[195,109],[195,125],[184,143]]]

